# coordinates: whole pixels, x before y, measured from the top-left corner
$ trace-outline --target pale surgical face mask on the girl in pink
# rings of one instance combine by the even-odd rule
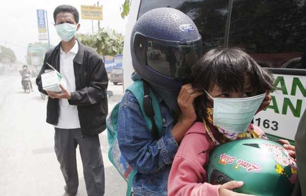
[[[241,134],[246,131],[262,104],[266,93],[245,98],[214,98],[214,125],[229,133]]]

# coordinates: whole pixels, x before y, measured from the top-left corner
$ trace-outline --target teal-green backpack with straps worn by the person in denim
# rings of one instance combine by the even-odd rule
[[[141,108],[142,115],[151,130],[151,134],[155,139],[163,135],[163,122],[160,111],[159,102],[154,92],[150,89],[149,84],[142,80],[135,81],[126,90],[131,91],[136,97]],[[133,179],[137,171],[127,163],[120,152],[117,139],[117,121],[119,113],[119,103],[114,107],[112,112],[108,114],[106,119],[108,143],[110,145],[108,157],[120,175],[127,182],[126,196],[131,195],[133,187]]]

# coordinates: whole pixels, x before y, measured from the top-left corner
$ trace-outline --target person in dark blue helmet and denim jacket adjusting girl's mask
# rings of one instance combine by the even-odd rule
[[[202,40],[186,14],[158,8],[143,14],[134,25],[131,55],[135,70],[132,79],[149,86],[159,102],[162,134],[152,133],[154,126],[149,128],[143,106],[132,91],[126,90],[119,104],[118,144],[123,157],[137,171],[131,195],[164,196],[174,155],[196,120],[194,99],[203,93],[186,84],[191,66],[203,55]],[[153,124],[154,119],[151,121]]]

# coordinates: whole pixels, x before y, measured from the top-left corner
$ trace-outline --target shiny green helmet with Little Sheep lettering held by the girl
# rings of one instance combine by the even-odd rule
[[[264,139],[236,140],[216,147],[207,172],[211,184],[243,181],[234,191],[258,196],[288,196],[297,178],[294,159],[281,144]]]

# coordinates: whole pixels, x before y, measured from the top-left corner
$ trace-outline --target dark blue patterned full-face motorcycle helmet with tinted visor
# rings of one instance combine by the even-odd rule
[[[186,14],[157,8],[143,14],[134,25],[131,54],[133,68],[141,78],[178,92],[203,55],[202,40]]]

